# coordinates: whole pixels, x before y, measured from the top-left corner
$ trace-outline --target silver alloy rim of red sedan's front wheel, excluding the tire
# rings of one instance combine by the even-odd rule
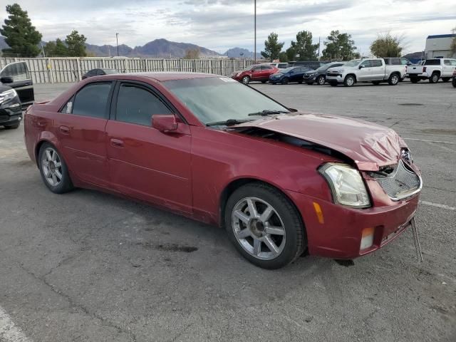
[[[271,260],[285,247],[283,220],[271,204],[257,197],[244,197],[232,210],[232,229],[237,242],[252,257]]]

